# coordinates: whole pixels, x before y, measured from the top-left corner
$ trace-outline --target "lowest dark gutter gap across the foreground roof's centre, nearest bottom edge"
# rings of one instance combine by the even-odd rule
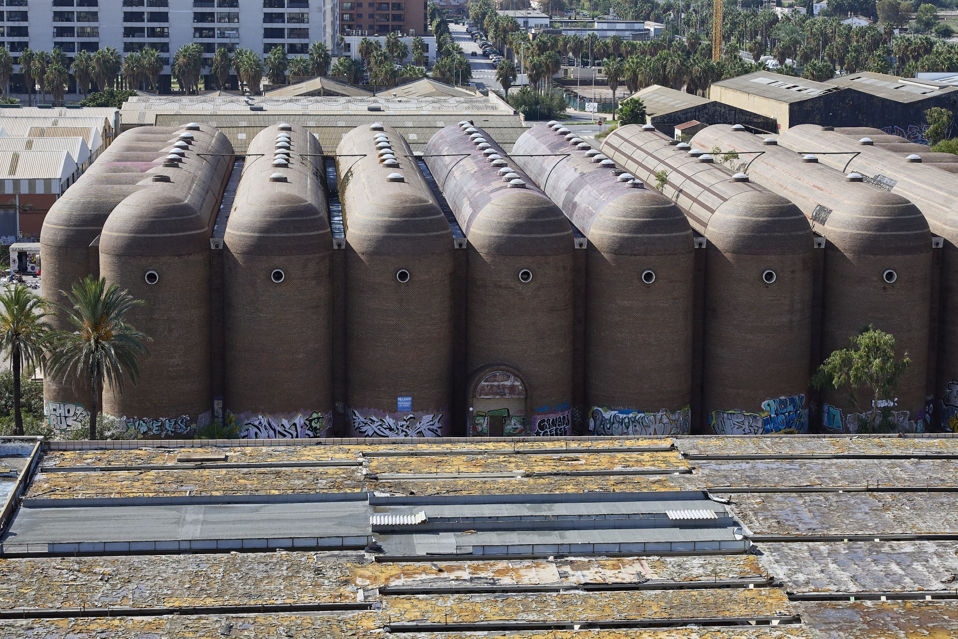
[[[614,628],[676,628],[695,625],[696,627],[741,627],[748,626],[785,626],[802,623],[798,615],[781,617],[676,617],[674,619],[620,619],[608,621],[577,622],[485,622],[478,624],[390,624],[383,628],[387,632],[479,632],[483,630],[584,630]]]

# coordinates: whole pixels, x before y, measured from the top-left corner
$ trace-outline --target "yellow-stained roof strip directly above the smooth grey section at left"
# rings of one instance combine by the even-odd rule
[[[198,468],[43,472],[28,498],[308,494],[363,491],[362,468]]]

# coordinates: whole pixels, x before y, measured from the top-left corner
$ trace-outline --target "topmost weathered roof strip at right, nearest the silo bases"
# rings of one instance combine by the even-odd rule
[[[958,438],[947,437],[683,437],[687,455],[958,455]]]

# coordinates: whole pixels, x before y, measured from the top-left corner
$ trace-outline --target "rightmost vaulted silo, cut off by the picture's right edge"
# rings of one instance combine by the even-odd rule
[[[817,151],[828,166],[860,173],[866,181],[910,200],[924,214],[932,235],[943,238],[941,282],[938,289],[937,366],[934,378],[934,430],[958,428],[958,180],[924,162],[909,162],[882,148],[860,144],[822,126],[801,125],[779,136],[792,150]],[[827,152],[828,154],[824,154]],[[935,362],[932,362],[934,366]],[[930,416],[929,416],[930,417]]]

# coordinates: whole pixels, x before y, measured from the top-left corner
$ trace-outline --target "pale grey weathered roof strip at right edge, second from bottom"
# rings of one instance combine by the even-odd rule
[[[762,543],[759,558],[788,592],[953,592],[954,541]]]

